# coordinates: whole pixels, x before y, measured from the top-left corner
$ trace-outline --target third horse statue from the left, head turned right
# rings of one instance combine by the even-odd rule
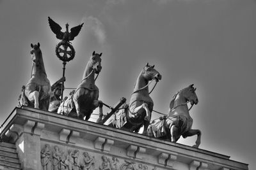
[[[135,83],[129,105],[125,104],[121,110],[116,111],[108,121],[108,125],[130,132],[140,131],[144,125],[143,134],[147,134],[147,127],[154,106],[148,92],[148,81],[159,81],[161,77],[154,66],[147,64],[143,67]]]

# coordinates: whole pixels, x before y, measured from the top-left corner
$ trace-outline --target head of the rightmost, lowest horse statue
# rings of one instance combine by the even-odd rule
[[[196,88],[193,87],[194,84],[189,85],[185,89],[182,89],[182,95],[190,102],[191,105],[198,103],[198,97],[196,96]]]

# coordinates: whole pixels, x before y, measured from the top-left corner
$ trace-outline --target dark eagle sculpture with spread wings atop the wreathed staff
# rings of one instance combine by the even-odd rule
[[[48,17],[49,25],[51,27],[52,32],[56,34],[56,38],[61,39],[62,41],[68,42],[72,41],[81,31],[83,24],[77,25],[76,27],[72,27],[70,32],[68,32],[68,24],[66,24],[66,32],[61,32],[61,26],[54,22],[50,17]]]

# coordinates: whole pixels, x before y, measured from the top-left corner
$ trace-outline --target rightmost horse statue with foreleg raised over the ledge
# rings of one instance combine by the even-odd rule
[[[198,98],[195,93],[196,88],[192,85],[186,87],[173,96],[170,102],[170,109],[168,116],[157,118],[153,120],[148,126],[148,136],[169,139],[176,143],[180,136],[187,138],[188,136],[197,135],[196,144],[193,147],[198,148],[201,142],[201,131],[198,129],[191,129],[193,119],[189,115],[188,103],[198,103]]]

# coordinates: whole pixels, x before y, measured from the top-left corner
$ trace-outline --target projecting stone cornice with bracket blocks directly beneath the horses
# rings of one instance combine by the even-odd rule
[[[228,156],[214,152],[208,152],[190,146],[171,143],[156,138],[150,138],[141,134],[131,133],[100,125],[93,122],[78,120],[76,118],[65,117],[48,111],[36,110],[34,108],[16,108],[15,117],[12,124],[24,125],[24,132],[31,132],[36,128],[36,134],[42,139],[47,139],[41,131],[58,134],[58,138],[52,139],[54,142],[68,142],[72,145],[82,146],[84,139],[92,141],[94,148],[102,152],[111,153],[113,146],[127,150],[127,157],[137,160],[144,160],[145,155],[156,157],[156,163],[166,167],[175,167],[176,162],[183,161],[191,168],[206,168],[208,164],[216,164],[218,169],[248,169],[248,165],[229,160]],[[37,122],[37,125],[36,125]],[[3,132],[8,131],[8,126]],[[64,129],[64,130],[63,130]],[[2,132],[2,133],[3,133]],[[111,153],[112,154],[112,153]],[[184,160],[186,160],[184,162]],[[197,163],[199,162],[199,166]],[[207,166],[206,166],[207,165]],[[197,166],[197,167],[196,167]],[[208,167],[209,168],[209,167]]]

